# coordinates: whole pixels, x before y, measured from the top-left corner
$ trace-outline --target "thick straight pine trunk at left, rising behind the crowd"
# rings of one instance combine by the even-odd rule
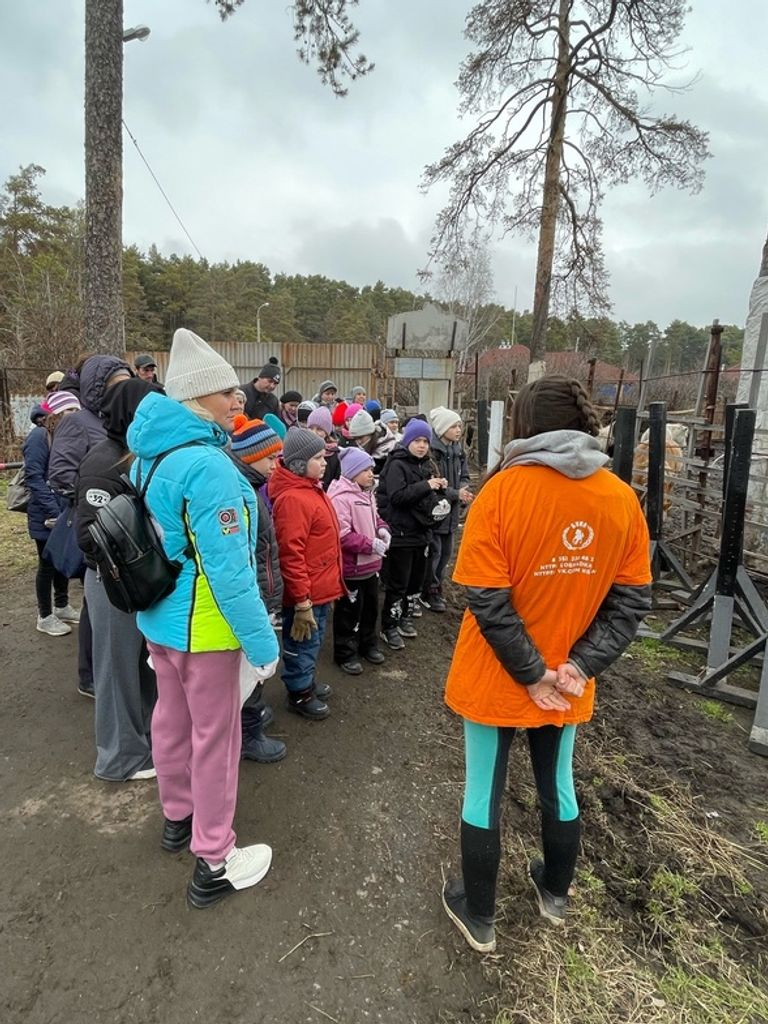
[[[123,0],[85,3],[85,347],[125,352]]]

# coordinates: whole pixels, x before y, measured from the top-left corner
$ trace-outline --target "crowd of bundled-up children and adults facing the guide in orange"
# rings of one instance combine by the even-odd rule
[[[95,699],[94,774],[158,777],[162,845],[191,844],[199,863],[187,893],[202,906],[268,867],[264,849],[232,853],[234,697],[214,715],[206,679],[214,673],[222,692],[228,679],[233,692],[243,650],[252,672],[238,701],[238,757],[281,760],[286,744],[265,732],[273,712],[263,698],[278,639],[288,710],[327,718],[331,687],[316,676],[326,632],[350,676],[381,666],[383,646],[402,650],[422,605],[444,610],[436,600],[443,556],[472,494],[461,419],[449,410],[433,410],[429,422],[413,418],[400,432],[397,412],[361,386],[344,400],[330,379],[311,400],[291,390],[279,396],[274,361],[241,387],[231,367],[183,329],[164,386],[151,357],[142,359],[134,375],[113,356],[84,358],[51,379],[33,411],[25,465],[39,553],[37,626],[58,636],[79,620],[79,689]],[[172,594],[138,614],[111,605],[89,531],[129,472],[136,486],[145,482],[166,552],[182,565]],[[61,553],[51,532],[61,518],[82,550],[76,573],[55,568]],[[449,540],[436,542],[437,530]],[[84,580],[80,610],[69,603],[72,574]],[[185,725],[176,721],[182,706]]]

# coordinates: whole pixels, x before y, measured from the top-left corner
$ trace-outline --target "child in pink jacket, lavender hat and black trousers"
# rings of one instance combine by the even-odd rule
[[[362,673],[360,657],[381,665],[377,644],[379,569],[391,535],[374,497],[374,460],[359,447],[339,452],[341,476],[328,497],[339,520],[347,596],[334,607],[334,660],[350,676]]]

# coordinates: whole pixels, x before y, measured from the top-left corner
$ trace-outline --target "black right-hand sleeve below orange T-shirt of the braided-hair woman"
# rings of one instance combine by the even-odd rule
[[[650,584],[614,584],[605,595],[587,632],[570,648],[568,660],[585,679],[604,672],[635,639],[650,611]]]

